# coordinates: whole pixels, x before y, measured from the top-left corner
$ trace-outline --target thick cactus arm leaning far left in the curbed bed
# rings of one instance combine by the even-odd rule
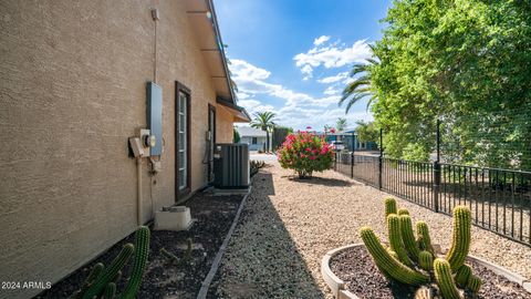
[[[360,235],[375,264],[384,269],[389,277],[399,282],[414,286],[419,286],[429,281],[428,276],[417,272],[393,258],[384,246],[382,246],[378,237],[376,237],[369,227],[362,227]]]

